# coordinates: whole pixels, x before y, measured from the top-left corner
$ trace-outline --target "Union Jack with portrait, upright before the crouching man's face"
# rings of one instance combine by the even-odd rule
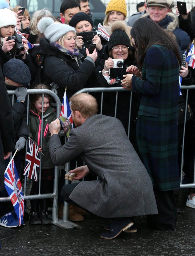
[[[64,101],[66,101],[66,102],[64,103]],[[66,96],[66,89],[64,92],[64,97],[63,97],[63,101],[62,101],[62,109],[61,109],[59,119],[60,119],[60,122],[61,122],[63,128],[64,128],[64,125],[63,125],[64,121],[66,122],[67,119],[70,121],[70,124],[68,125],[69,132],[70,132],[70,129],[73,128],[73,120],[72,120],[72,113],[70,110],[70,106],[68,103],[68,98]],[[67,138],[70,137],[69,132],[66,133]]]

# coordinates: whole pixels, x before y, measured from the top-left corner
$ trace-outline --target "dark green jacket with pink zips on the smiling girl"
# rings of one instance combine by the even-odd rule
[[[55,109],[50,106],[46,109],[43,115],[43,137],[42,137],[42,169],[51,169],[54,167],[47,143],[50,139],[49,125],[56,119]],[[29,137],[34,143],[40,146],[41,140],[41,117],[32,109],[29,113]]]

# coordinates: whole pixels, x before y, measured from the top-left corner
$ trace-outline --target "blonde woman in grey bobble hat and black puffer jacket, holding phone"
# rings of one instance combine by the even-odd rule
[[[44,60],[45,83],[57,90],[60,100],[63,100],[64,89],[67,87],[68,99],[86,84],[95,71],[97,58],[96,49],[87,57],[79,52],[76,46],[76,30],[67,24],[54,23],[50,17],[42,18],[38,23],[40,33],[45,38],[40,39],[40,48],[46,55]]]

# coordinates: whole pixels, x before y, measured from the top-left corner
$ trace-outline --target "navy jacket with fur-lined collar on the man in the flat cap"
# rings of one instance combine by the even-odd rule
[[[150,18],[149,13],[142,15],[140,18],[144,17]],[[179,20],[177,15],[174,13],[168,13],[166,17],[162,21],[157,22],[157,24],[163,29],[173,32],[173,34],[176,36],[177,44],[179,45],[182,53],[184,53],[191,41],[189,35],[178,27]]]

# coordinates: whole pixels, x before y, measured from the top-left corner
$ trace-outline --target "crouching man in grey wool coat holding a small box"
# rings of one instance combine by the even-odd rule
[[[80,155],[87,165],[71,171],[76,171],[75,179],[90,171],[100,179],[64,185],[61,196],[93,214],[112,218],[110,232],[100,235],[112,239],[133,225],[129,217],[158,213],[152,182],[122,123],[114,117],[97,115],[93,96],[73,95],[70,107],[76,128],[70,131],[65,145],[58,136],[59,119],[50,124],[52,162],[59,166]]]

